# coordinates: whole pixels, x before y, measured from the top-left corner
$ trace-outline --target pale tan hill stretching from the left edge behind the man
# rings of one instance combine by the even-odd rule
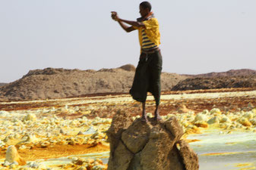
[[[15,82],[0,87],[0,100],[36,100],[73,97],[97,93],[128,93],[134,79],[131,64],[115,69],[67,70],[46,68],[30,70]],[[163,73],[162,90],[170,91],[188,76]]]

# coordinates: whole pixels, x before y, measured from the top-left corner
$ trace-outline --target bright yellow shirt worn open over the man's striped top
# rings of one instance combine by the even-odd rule
[[[150,39],[151,42],[153,42],[155,45],[159,46],[160,45],[160,31],[159,31],[159,23],[156,18],[150,18],[149,20],[144,20],[142,21],[145,25],[144,27],[138,27],[138,26],[133,26],[134,29],[137,29],[139,32],[139,41],[140,45],[142,47],[142,29],[144,29],[148,39]]]

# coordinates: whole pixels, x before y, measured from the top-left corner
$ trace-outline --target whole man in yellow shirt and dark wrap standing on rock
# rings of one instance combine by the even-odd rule
[[[159,105],[161,94],[160,76],[162,71],[162,56],[160,53],[159,24],[151,11],[149,2],[141,2],[141,17],[137,21],[123,20],[115,11],[112,11],[112,19],[117,21],[126,32],[138,30],[141,45],[141,56],[136,68],[134,82],[130,94],[134,100],[142,103],[142,120],[147,122],[145,104],[147,91],[153,94],[156,101],[154,119],[160,120]],[[131,25],[127,26],[125,23]]]

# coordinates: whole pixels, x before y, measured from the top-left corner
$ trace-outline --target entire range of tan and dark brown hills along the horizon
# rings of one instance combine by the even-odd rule
[[[115,69],[67,70],[46,68],[30,70],[21,79],[1,83],[0,101],[37,100],[74,97],[85,94],[128,93],[135,66]],[[162,73],[162,91],[184,91],[214,88],[256,87],[256,70],[229,70],[222,73],[179,75]]]

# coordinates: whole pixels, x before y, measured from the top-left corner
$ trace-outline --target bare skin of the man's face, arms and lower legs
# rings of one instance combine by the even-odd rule
[[[115,11],[112,11],[111,13],[112,13],[112,15],[111,15],[112,19],[117,21],[119,23],[119,25],[122,27],[122,29],[124,29],[126,32],[134,31],[135,29],[134,29],[133,26],[145,27],[144,23],[137,22],[137,21],[132,21],[132,20],[123,20],[123,19],[121,19],[119,17],[119,15],[117,14],[117,12],[115,12]],[[147,17],[150,14],[150,9],[143,8],[143,7],[140,6],[140,14],[141,14],[141,17]],[[127,25],[125,25],[125,23],[127,23],[128,25],[131,25],[131,26],[127,26]],[[143,102],[142,103],[141,120],[144,121],[144,122],[148,122],[145,107],[146,107],[146,103]],[[157,105],[157,104],[156,104],[156,110],[154,112],[154,119],[157,120],[157,121],[159,121],[161,119],[160,114],[159,114],[159,105]]]

